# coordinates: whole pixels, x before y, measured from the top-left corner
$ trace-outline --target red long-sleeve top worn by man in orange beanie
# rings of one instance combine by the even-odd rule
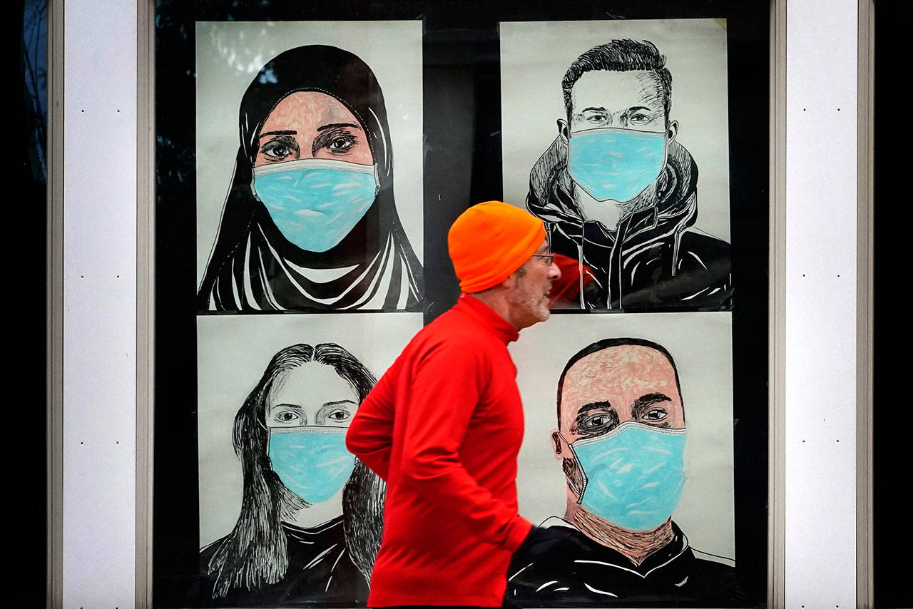
[[[346,446],[387,481],[370,606],[500,606],[532,524],[517,513],[518,333],[463,295],[406,346]]]

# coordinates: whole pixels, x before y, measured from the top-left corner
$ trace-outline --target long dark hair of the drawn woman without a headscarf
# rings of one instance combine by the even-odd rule
[[[286,534],[281,523],[308,504],[286,488],[270,466],[266,403],[273,385],[307,362],[332,366],[352,385],[359,404],[377,382],[352,353],[331,342],[313,347],[296,344],[273,356],[235,415],[232,437],[244,471],[244,499],[235,528],[219,542],[206,565],[207,572],[215,579],[214,598],[225,596],[232,588],[253,590],[276,583],[289,568]],[[384,492],[383,481],[356,458],[352,476],[342,489],[343,530],[352,562],[367,581],[371,579],[374,558],[381,545]]]

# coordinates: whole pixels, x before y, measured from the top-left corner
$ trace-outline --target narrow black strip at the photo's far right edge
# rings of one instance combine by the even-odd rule
[[[909,377],[904,336],[909,335],[909,308],[897,298],[903,286],[900,269],[909,258],[909,220],[900,220],[897,204],[908,196],[908,152],[897,138],[892,94],[898,74],[908,69],[906,54],[897,52],[897,34],[908,22],[900,3],[875,3],[875,370],[873,379],[874,452],[874,593],[879,609],[913,606],[908,541]],[[908,218],[905,211],[902,217]],[[899,379],[899,381],[898,381]],[[900,396],[898,402],[897,397]],[[901,414],[902,418],[897,415]]]

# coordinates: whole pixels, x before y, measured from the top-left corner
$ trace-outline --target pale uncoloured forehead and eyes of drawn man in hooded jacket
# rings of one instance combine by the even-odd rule
[[[570,131],[615,127],[665,131],[659,76],[649,70],[584,72],[571,90]]]

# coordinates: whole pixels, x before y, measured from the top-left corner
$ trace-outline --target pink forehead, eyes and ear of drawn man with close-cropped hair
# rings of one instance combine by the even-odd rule
[[[665,355],[650,347],[611,347],[573,364],[561,390],[563,441],[552,434],[555,454],[567,459],[571,454],[566,443],[603,436],[626,421],[685,428],[675,370]]]

